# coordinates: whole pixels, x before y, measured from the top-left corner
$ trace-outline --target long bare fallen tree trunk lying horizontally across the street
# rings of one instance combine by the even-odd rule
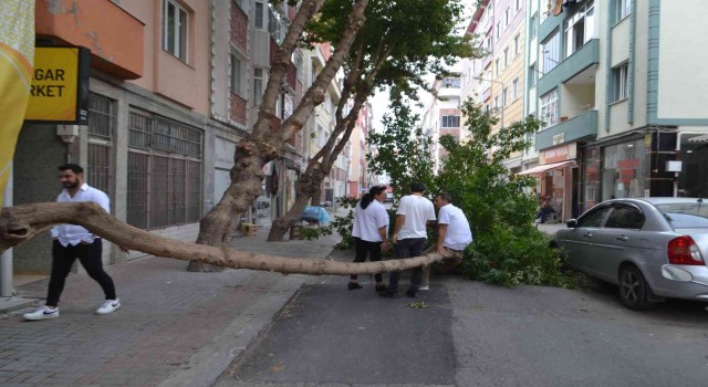
[[[72,223],[88,229],[122,250],[222,268],[271,271],[283,274],[351,275],[406,270],[442,260],[442,255],[379,262],[348,263],[306,258],[284,258],[180,242],[136,229],[108,215],[93,202],[19,205],[0,212],[0,253],[19,245],[54,224]]]

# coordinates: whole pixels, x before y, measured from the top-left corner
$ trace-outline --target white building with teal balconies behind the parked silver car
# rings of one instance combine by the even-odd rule
[[[522,174],[563,219],[610,198],[708,192],[700,0],[531,0]],[[538,74],[538,77],[535,76]]]

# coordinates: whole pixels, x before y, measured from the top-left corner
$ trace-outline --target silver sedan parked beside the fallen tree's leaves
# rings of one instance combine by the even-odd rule
[[[620,286],[644,310],[665,297],[708,301],[708,202],[698,198],[603,201],[555,232],[564,263]]]

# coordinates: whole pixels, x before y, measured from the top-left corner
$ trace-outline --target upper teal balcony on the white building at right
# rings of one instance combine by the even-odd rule
[[[600,40],[592,39],[539,80],[538,94],[543,95],[550,92],[561,83],[568,82],[584,70],[598,63]]]

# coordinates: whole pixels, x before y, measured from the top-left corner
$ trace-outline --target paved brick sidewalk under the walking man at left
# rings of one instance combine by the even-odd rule
[[[268,243],[268,230],[238,238],[239,250],[324,259],[336,238]],[[309,276],[225,270],[188,273],[187,262],[146,258],[106,268],[123,306],[98,316],[98,285],[71,274],[61,316],[24,322],[0,314],[2,386],[209,386],[267,327]],[[48,280],[18,287],[45,296]]]

